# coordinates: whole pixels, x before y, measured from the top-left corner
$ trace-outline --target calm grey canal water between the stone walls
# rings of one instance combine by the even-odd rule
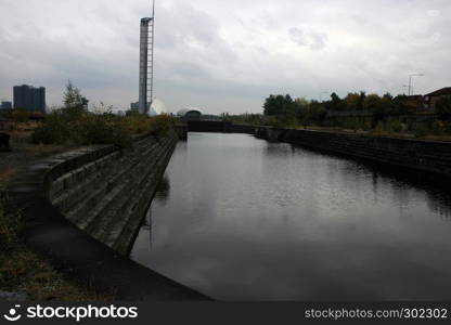
[[[450,300],[450,207],[399,171],[189,133],[131,258],[219,300]]]

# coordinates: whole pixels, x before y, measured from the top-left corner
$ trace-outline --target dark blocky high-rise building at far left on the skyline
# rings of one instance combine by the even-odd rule
[[[14,86],[14,108],[46,113],[46,88]]]

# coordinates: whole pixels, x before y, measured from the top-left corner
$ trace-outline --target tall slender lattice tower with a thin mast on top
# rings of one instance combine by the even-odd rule
[[[154,26],[155,1],[152,4],[152,17],[141,20],[139,90],[139,112],[141,114],[149,113],[154,96]]]

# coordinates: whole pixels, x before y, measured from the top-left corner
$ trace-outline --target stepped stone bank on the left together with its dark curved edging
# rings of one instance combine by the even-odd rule
[[[29,166],[8,191],[23,211],[21,239],[107,300],[208,300],[127,257],[178,139],[146,133],[130,148],[85,147]]]

